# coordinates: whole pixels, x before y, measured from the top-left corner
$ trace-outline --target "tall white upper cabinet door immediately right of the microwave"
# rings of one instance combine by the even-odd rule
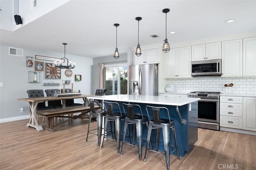
[[[222,42],[222,76],[242,76],[242,39]]]

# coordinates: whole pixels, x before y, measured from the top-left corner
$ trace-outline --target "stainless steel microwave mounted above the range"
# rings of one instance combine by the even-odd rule
[[[191,61],[191,76],[221,76],[221,59]]]

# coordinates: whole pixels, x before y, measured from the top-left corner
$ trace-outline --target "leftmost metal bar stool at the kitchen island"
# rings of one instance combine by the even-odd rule
[[[87,137],[86,137],[86,142],[88,141],[88,134],[92,133],[91,131],[97,130],[96,133],[92,133],[93,135],[98,135],[98,146],[100,146],[100,141],[101,141],[101,136],[102,136],[102,117],[106,116],[106,112],[102,109],[100,106],[100,103],[98,101],[89,101],[89,106],[90,106],[90,117],[89,117],[89,123],[88,123],[88,131],[87,131]],[[94,106],[99,106],[100,109],[95,109]],[[92,121],[92,118],[96,118],[97,120],[97,129],[92,129],[90,130],[90,123]]]

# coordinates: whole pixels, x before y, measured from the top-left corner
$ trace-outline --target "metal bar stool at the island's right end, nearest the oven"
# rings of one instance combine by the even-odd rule
[[[170,119],[169,110],[166,107],[153,107],[153,106],[146,106],[147,113],[149,115],[152,113],[153,120],[149,121],[148,125],[148,137],[147,137],[147,145],[146,145],[146,152],[144,157],[144,162],[146,161],[147,153],[148,153],[148,145],[150,141],[151,131],[152,129],[158,129],[162,128],[163,131],[163,138],[164,138],[164,154],[166,158],[166,166],[167,169],[170,169],[170,153],[174,152],[174,150],[177,151],[177,158],[180,159],[179,152],[178,152],[178,145],[176,140],[176,133],[174,128],[174,121]],[[169,119],[163,119],[160,117],[160,115],[167,114]],[[172,135],[174,139],[174,145],[170,145],[170,128],[172,128]],[[157,132],[156,132],[157,133]],[[158,144],[158,143],[157,143]],[[175,147],[172,152],[169,151],[169,146]],[[158,152],[157,150],[151,150],[153,152]]]

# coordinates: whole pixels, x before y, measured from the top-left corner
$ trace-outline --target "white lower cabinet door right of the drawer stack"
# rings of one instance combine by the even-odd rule
[[[244,97],[243,129],[256,131],[256,98]]]

